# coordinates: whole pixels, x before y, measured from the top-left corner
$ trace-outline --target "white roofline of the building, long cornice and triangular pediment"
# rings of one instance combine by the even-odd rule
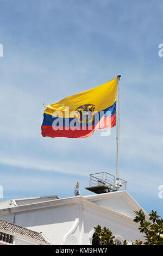
[[[110,193],[92,194],[91,196],[78,196],[58,199],[46,198],[44,202],[42,201],[35,203],[31,203],[31,201],[28,201],[27,198],[27,202],[29,204],[21,203],[19,205],[17,205],[16,202],[17,199],[0,202],[0,218],[2,220],[6,220],[5,216],[8,214],[11,216],[11,214],[18,214],[18,212],[43,210],[72,204],[84,204],[90,208],[93,207],[98,210],[107,211],[110,215],[121,216],[133,223],[133,218],[135,218],[134,211],[139,211],[142,209],[141,206],[137,204],[137,202],[130,196],[127,191],[116,191]],[[148,218],[147,212],[144,210],[143,212]],[[14,217],[12,217],[12,220],[14,221]]]

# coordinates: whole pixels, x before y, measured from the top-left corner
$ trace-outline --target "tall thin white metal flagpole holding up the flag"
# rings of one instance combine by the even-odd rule
[[[116,172],[116,185],[119,183],[119,151],[120,151],[120,77],[118,77],[118,106],[117,106],[117,172]],[[117,186],[118,189],[118,186]]]

